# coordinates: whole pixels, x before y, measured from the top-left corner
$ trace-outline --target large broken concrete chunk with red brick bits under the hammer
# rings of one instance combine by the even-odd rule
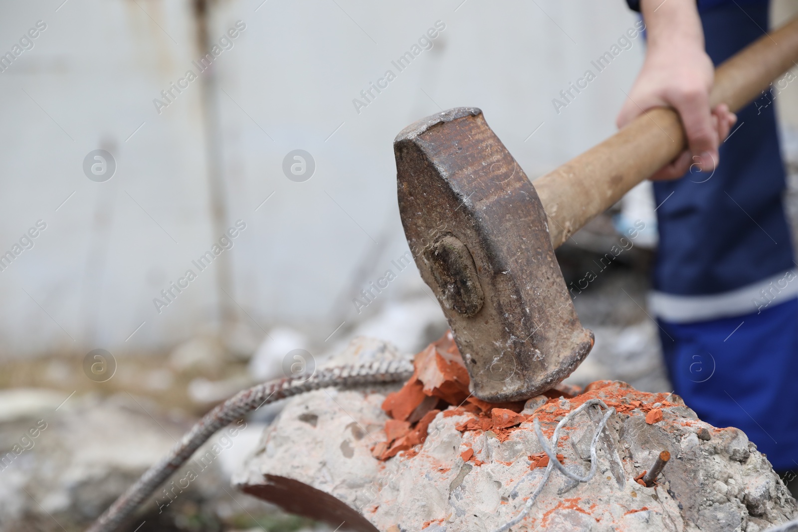
[[[331,363],[398,356],[359,338]],[[757,532],[796,517],[756,445],[736,428],[698,420],[676,395],[597,381],[484,403],[469,395],[449,334],[414,363],[399,389],[327,388],[290,400],[234,483],[351,530],[496,530],[519,515],[549,463],[533,420],[551,438],[563,416],[599,399],[615,413],[598,440],[595,476],[578,483],[553,471],[512,530]],[[559,434],[556,457],[574,475],[590,470],[602,414],[591,406]],[[671,459],[646,487],[643,475],[662,451]]]

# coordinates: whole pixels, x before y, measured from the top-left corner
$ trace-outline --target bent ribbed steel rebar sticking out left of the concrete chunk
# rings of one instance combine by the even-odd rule
[[[363,365],[344,365],[320,369],[307,380],[282,378],[269,380],[238,392],[218,404],[188,431],[172,451],[160,462],[150,467],[144,475],[97,518],[88,532],[115,530],[138,508],[172,473],[177,471],[203,443],[216,431],[232,421],[286,397],[328,388],[330,386],[361,386],[385,384],[408,380],[413,375],[413,362],[409,360],[375,361]]]

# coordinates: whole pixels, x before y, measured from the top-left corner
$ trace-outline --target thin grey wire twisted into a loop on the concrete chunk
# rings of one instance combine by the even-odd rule
[[[591,470],[588,471],[587,475],[580,477],[579,475],[574,475],[573,473],[571,473],[571,471],[568,471],[565,468],[565,466],[563,466],[562,463],[559,463],[559,460],[557,459],[557,454],[555,452],[557,448],[557,439],[559,439],[560,429],[562,429],[566,424],[570,423],[571,420],[573,420],[573,418],[577,414],[579,414],[579,412],[583,412],[583,410],[586,410],[587,408],[590,408],[591,406],[594,405],[604,408],[606,410],[606,413],[602,417],[602,420],[599,422],[599,426],[596,428],[595,433],[593,434],[593,439],[591,441]],[[599,464],[599,461],[596,459],[596,443],[598,443],[599,441],[599,436],[604,430],[604,426],[606,425],[607,420],[609,420],[610,416],[612,416],[614,413],[615,409],[607,407],[604,401],[600,399],[591,399],[585,401],[583,404],[579,406],[579,408],[576,408],[575,410],[568,412],[567,416],[563,417],[563,419],[560,420],[560,422],[557,424],[557,427],[554,429],[554,434],[551,435],[551,445],[549,445],[546,436],[544,436],[543,432],[540,430],[540,422],[538,418],[535,418],[534,420],[535,435],[537,435],[538,441],[540,442],[540,446],[543,447],[543,451],[545,451],[546,455],[549,457],[549,463],[546,466],[546,471],[543,473],[543,479],[540,480],[538,487],[536,487],[535,491],[532,492],[531,497],[527,499],[526,504],[523,505],[523,509],[519,512],[518,515],[516,515],[515,518],[512,518],[512,520],[504,523],[504,525],[494,530],[494,532],[506,532],[507,530],[510,530],[510,527],[516,526],[519,522],[523,520],[523,518],[527,517],[527,514],[529,514],[529,510],[531,510],[532,505],[535,504],[535,500],[538,498],[538,495],[540,495],[540,492],[543,491],[544,487],[546,487],[546,483],[548,482],[548,479],[551,476],[551,471],[553,471],[555,468],[557,469],[557,471],[567,476],[569,479],[575,480],[580,483],[590,482],[593,476],[595,475],[596,467],[598,467]],[[527,475],[524,475],[523,478],[520,479],[518,483],[516,483],[516,487],[514,487],[513,490],[510,492],[511,495],[513,493],[516,493],[519,484],[522,483],[524,479],[527,479],[527,477],[531,474],[532,471],[527,473]]]

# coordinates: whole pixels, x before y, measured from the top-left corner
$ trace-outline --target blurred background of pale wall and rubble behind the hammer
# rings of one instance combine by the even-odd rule
[[[773,24],[796,10],[777,0]],[[439,337],[415,266],[394,266],[393,137],[476,106],[534,180],[615,131],[642,37],[560,92],[636,22],[622,0],[0,6],[0,451],[22,448],[0,465],[0,529],[81,530],[294,349],[319,364],[360,335],[406,353]],[[792,215],[798,92],[775,104]],[[646,221],[575,300],[596,335],[575,384],[670,391],[645,312],[655,207],[644,184],[558,250],[578,280]],[[229,487],[278,411],[140,530],[327,530]]]

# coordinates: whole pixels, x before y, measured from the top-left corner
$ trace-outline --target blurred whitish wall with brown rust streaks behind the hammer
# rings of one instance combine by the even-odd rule
[[[6,356],[162,349],[213,325],[219,305],[259,334],[283,323],[323,339],[356,319],[353,289],[406,250],[392,148],[401,128],[478,106],[534,177],[614,132],[642,61],[638,37],[558,114],[552,98],[634,25],[622,0],[230,0],[213,4],[209,37],[247,27],[215,61],[210,97],[203,73],[158,114],[152,100],[205,52],[192,2],[61,2],[0,7],[0,51],[47,24],[0,73],[0,252],[47,223],[0,272]],[[433,49],[398,73],[391,61],[438,20]],[[358,114],[353,98],[386,69],[397,79]],[[105,183],[82,170],[96,148],[117,160]],[[304,183],[282,173],[295,148],[316,163]],[[157,313],[152,299],[237,219],[247,229],[222,255],[229,274],[211,266]],[[396,294],[417,272],[401,277]]]

